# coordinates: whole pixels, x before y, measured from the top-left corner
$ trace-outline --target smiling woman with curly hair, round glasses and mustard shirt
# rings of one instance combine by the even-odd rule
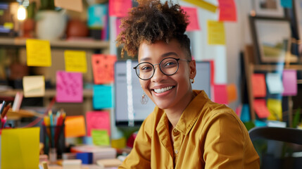
[[[156,107],[120,168],[259,168],[236,113],[192,90],[196,62],[187,25],[178,4],[159,0],[139,1],[122,20],[118,44],[124,44],[122,53],[138,56],[134,69]]]

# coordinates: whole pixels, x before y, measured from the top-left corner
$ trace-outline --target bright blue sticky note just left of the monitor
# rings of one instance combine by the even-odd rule
[[[92,99],[94,109],[112,108],[113,93],[110,85],[94,85],[94,96]]]

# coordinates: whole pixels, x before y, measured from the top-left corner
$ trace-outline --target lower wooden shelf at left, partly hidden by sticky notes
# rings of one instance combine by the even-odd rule
[[[23,93],[22,89],[8,89],[7,91],[1,91],[1,96],[15,96],[17,92]],[[46,89],[45,90],[45,96],[44,97],[54,97],[56,95],[56,89]],[[84,97],[92,97],[92,89],[84,89],[83,90],[83,96]]]

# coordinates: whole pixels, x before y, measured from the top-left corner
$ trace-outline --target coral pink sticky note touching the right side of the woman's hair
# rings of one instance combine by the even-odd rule
[[[182,6],[182,9],[184,9],[187,15],[189,15],[189,25],[187,26],[187,31],[200,30],[197,8]]]

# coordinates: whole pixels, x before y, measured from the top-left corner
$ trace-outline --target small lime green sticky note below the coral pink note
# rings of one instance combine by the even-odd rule
[[[98,146],[109,146],[108,132],[106,130],[92,130],[92,142]]]

